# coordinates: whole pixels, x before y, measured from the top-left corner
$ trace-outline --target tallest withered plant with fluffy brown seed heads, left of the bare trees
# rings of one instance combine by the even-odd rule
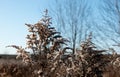
[[[64,47],[69,41],[63,38],[54,27],[51,27],[51,24],[48,10],[45,10],[45,15],[36,24],[25,24],[30,33],[26,37],[27,46],[25,48],[16,45],[7,46],[16,48],[18,52],[16,58],[22,57],[25,64],[37,65],[38,67],[33,68],[33,71],[39,72],[40,76],[57,76],[59,73],[56,70],[59,70],[61,66],[62,55],[67,49],[72,49]]]

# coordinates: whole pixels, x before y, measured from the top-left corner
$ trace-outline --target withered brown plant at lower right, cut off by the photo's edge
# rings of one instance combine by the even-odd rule
[[[105,66],[103,77],[120,77],[120,55],[113,48],[110,48],[109,51],[112,54],[106,55],[109,62]]]

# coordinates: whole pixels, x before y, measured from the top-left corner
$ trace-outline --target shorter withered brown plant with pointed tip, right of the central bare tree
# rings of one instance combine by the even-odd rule
[[[81,44],[81,49],[77,51],[77,56],[81,63],[81,77],[102,77],[104,67],[108,60],[105,59],[103,52],[105,50],[97,50],[94,43],[92,43],[92,33]]]

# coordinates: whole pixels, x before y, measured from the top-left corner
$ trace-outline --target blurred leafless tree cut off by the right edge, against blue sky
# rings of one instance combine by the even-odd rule
[[[109,39],[119,44],[120,38],[120,0],[102,0],[100,13],[103,25],[99,30]]]

